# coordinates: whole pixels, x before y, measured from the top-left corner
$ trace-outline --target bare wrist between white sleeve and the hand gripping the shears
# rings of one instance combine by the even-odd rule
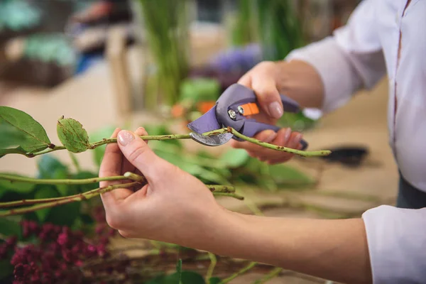
[[[277,87],[281,94],[295,99],[302,107],[322,107],[324,85],[312,65],[302,60],[282,60],[275,64],[279,70]]]

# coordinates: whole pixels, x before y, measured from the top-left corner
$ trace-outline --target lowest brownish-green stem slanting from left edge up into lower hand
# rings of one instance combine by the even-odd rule
[[[107,187],[99,187],[96,190],[90,190],[89,192],[80,193],[80,195],[73,195],[72,197],[65,197],[61,200],[55,200],[53,202],[47,202],[43,204],[35,204],[30,207],[24,207],[24,208],[18,208],[18,209],[11,209],[6,211],[0,212],[0,217],[6,217],[11,215],[18,215],[18,214],[25,214],[28,212],[34,212],[40,209],[55,207],[62,204],[67,204],[71,202],[76,201],[82,201],[82,200],[89,200],[92,197],[95,197],[97,195],[101,195],[102,193],[109,192],[111,190],[115,190],[116,188],[123,188],[123,187],[133,187],[135,185],[139,185],[139,182],[129,182],[129,183],[123,183],[120,185],[109,185]]]

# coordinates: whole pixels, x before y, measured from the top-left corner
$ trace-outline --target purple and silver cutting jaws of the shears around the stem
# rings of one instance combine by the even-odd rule
[[[190,133],[192,139],[206,146],[223,145],[224,143],[231,140],[232,136],[234,136],[232,133],[223,133],[209,137],[202,135],[204,132],[214,131],[216,129],[222,128],[216,118],[216,106],[212,107],[212,109],[207,111],[198,119],[195,119],[195,121],[192,121],[187,126],[189,129],[194,131]]]

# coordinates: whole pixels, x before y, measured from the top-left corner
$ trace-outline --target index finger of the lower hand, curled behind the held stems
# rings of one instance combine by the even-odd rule
[[[112,138],[117,137],[120,129],[116,129],[112,134]],[[99,177],[109,177],[113,175],[121,175],[121,166],[123,163],[123,154],[117,143],[108,144],[105,148],[104,158],[102,159],[101,167],[99,169]],[[117,182],[99,182],[100,187],[117,184]],[[131,195],[132,191],[126,188],[119,188],[110,192],[105,192],[101,195],[102,202],[104,203],[105,210],[111,210],[117,201],[124,200]]]

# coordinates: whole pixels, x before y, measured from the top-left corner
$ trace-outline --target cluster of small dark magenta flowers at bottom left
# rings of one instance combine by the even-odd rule
[[[40,226],[33,221],[23,221],[24,238],[36,239],[36,243],[23,246],[13,236],[0,246],[0,259],[13,253],[13,284],[61,283],[65,279],[67,283],[82,283],[84,275],[80,268],[84,262],[109,256],[109,236],[116,233],[107,226],[102,207],[94,212],[94,219],[97,236],[91,239],[67,226],[50,223]]]

